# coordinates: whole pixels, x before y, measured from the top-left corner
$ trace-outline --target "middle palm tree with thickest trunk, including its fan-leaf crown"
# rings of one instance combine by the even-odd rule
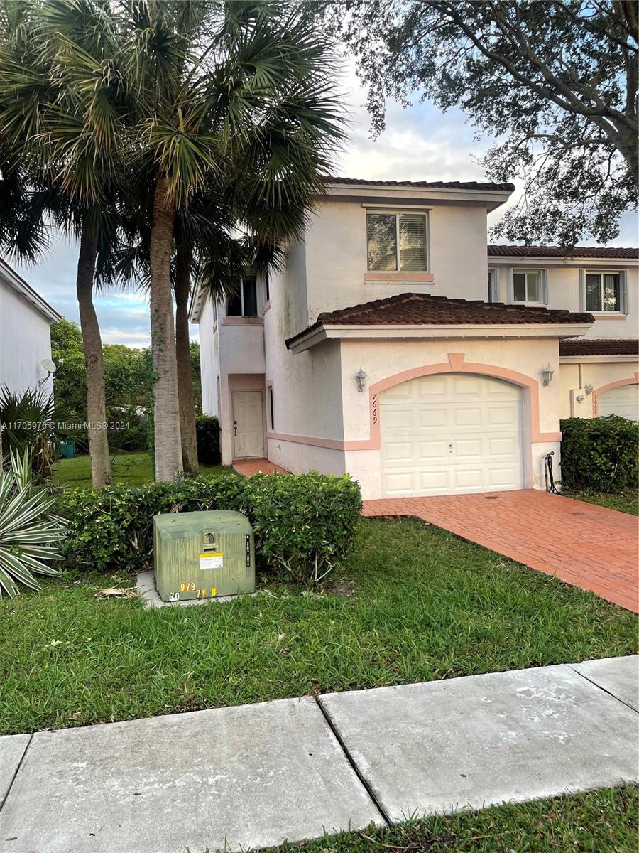
[[[156,479],[170,480],[182,467],[170,275],[178,212],[211,179],[228,180],[236,201],[244,194],[240,221],[263,208],[264,225],[292,235],[343,131],[330,46],[293,4],[147,0],[119,9],[128,34],[125,77],[137,98],[131,150],[153,163],[155,177]]]

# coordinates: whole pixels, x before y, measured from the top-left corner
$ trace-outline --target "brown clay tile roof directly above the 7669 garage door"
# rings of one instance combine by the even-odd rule
[[[504,305],[481,299],[448,299],[429,293],[400,293],[387,299],[375,299],[336,311],[324,311],[312,326],[286,341],[289,346],[302,335],[320,326],[431,326],[485,325],[497,323],[591,323],[591,314],[573,314],[567,310],[551,310],[527,305]]]

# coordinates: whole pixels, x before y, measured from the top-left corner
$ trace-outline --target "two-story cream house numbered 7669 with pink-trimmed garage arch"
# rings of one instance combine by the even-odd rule
[[[521,258],[491,255],[489,274],[486,216],[513,189],[334,178],[284,269],[245,276],[227,304],[198,290],[222,461],[348,472],[366,498],[543,488],[565,414],[560,345],[600,320],[591,296],[579,304],[583,264],[565,305],[552,283],[562,259],[536,262],[537,293],[529,258],[525,293]],[[636,316],[630,260],[619,270],[620,310]]]

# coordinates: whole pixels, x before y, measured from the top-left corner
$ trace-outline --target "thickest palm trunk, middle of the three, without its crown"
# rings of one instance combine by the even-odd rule
[[[151,352],[155,397],[155,479],[176,479],[181,471],[180,406],[177,396],[176,334],[170,279],[176,206],[168,198],[169,182],[158,178],[151,227]]]

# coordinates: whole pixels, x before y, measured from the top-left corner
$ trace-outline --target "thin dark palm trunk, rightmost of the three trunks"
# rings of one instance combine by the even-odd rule
[[[180,402],[182,467],[198,473],[198,443],[195,435],[195,401],[191,346],[188,339],[188,297],[191,293],[191,247],[182,244],[176,252],[176,357],[177,391]]]

